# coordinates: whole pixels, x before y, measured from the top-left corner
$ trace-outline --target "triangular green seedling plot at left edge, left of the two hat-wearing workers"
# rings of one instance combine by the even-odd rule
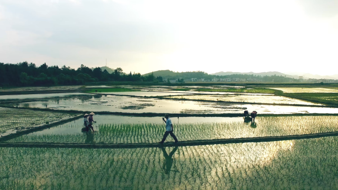
[[[73,114],[11,108],[1,108],[0,115],[0,133],[11,129],[34,127],[36,125],[46,124],[55,120],[60,120],[62,118],[66,119],[74,116]]]

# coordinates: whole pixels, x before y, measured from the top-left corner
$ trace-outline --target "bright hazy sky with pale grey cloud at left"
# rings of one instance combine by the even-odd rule
[[[338,0],[0,0],[0,62],[338,74]]]

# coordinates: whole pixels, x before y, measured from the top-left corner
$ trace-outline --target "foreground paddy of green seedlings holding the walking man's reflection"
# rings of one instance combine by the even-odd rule
[[[337,190],[338,137],[149,149],[0,148],[1,190]]]

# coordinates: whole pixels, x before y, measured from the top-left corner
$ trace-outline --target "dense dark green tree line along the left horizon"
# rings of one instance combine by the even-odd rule
[[[109,74],[96,67],[90,69],[81,65],[78,69],[62,66],[47,66],[46,63],[37,67],[34,63],[20,62],[17,64],[0,63],[1,86],[42,86],[42,85],[74,85],[98,81],[154,81],[153,75],[141,76],[139,73],[125,74],[117,68]]]

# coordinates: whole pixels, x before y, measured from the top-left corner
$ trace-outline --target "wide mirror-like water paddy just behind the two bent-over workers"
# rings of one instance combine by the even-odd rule
[[[337,114],[337,108],[275,106],[226,102],[199,102],[115,95],[88,95],[81,97],[50,98],[48,100],[11,101],[3,106],[40,108],[64,111],[121,112],[121,113],[176,113],[227,114],[255,110],[259,114],[319,113]]]

